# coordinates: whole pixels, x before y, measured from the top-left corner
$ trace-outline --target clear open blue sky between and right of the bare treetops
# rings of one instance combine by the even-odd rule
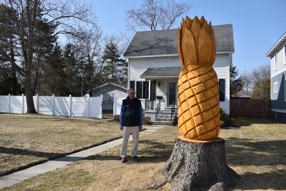
[[[93,10],[105,34],[124,31],[124,10],[142,1],[94,0]],[[181,1],[178,1],[181,2]],[[233,24],[233,65],[239,72],[270,63],[265,54],[286,31],[286,1],[184,1],[193,5],[186,15],[203,15],[212,25]],[[185,15],[183,16],[185,17]],[[180,18],[181,20],[181,18]],[[179,24],[179,23],[178,23]],[[178,26],[175,25],[175,27]]]

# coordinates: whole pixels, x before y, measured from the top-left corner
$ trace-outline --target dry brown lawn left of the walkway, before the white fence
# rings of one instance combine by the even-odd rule
[[[120,137],[113,123],[0,115],[0,176]]]

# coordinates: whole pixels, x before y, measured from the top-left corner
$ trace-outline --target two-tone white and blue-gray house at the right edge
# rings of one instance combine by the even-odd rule
[[[265,56],[271,58],[272,117],[286,122],[286,32]]]

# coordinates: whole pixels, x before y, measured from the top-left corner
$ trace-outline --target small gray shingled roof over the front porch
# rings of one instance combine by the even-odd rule
[[[179,76],[182,67],[148,68],[140,77],[147,76]]]

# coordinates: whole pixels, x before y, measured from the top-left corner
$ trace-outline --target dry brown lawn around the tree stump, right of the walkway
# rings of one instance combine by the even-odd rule
[[[238,130],[220,131],[227,163],[242,179],[230,190],[286,189],[286,124],[271,119],[236,118]],[[161,178],[177,127],[166,127],[139,139],[140,162],[119,162],[120,145],[64,168],[30,178],[3,190],[133,190]],[[132,141],[128,144],[131,152]],[[130,160],[131,157],[128,157]],[[170,190],[170,184],[158,190]]]

